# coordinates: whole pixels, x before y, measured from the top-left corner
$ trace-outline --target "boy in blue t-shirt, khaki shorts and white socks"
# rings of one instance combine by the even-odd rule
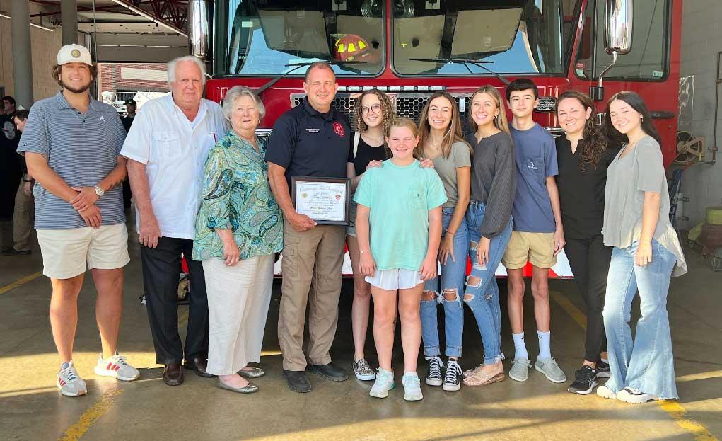
[[[508,273],[509,321],[515,356],[509,377],[526,381],[529,353],[524,343],[524,278],[526,262],[532,265],[531,294],[534,296],[539,356],[534,369],[549,381],[565,382],[566,375],[552,358],[549,310],[549,268],[564,247],[564,231],[559,204],[557,150],[554,139],[533,119],[539,103],[534,82],[520,78],[506,88],[506,98],[514,116],[511,135],[516,159],[516,195],[513,206],[513,232],[502,262]]]

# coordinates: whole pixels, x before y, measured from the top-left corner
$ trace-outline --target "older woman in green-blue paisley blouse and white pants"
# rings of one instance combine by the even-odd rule
[[[266,141],[256,137],[263,103],[235,86],[223,114],[231,129],[206,159],[193,259],[203,262],[208,292],[208,372],[219,388],[253,393],[258,386],[248,379],[265,372],[248,362],[261,357],[283,218],[269,188]]]

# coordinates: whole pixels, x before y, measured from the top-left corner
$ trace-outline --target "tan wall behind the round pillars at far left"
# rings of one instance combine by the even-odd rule
[[[8,12],[10,2],[17,0],[0,0],[0,11]],[[47,11],[43,5],[31,3],[30,14]],[[33,21],[37,22],[37,18]],[[12,33],[10,20],[0,17],[0,87],[5,88],[6,95],[14,95],[14,75],[12,63]],[[53,32],[30,27],[30,43],[32,45],[32,94],[35,100],[54,95],[58,91],[58,83],[53,80],[51,69],[56,62],[58,49],[63,45],[63,35],[58,27]],[[26,108],[32,103],[18,103]]]

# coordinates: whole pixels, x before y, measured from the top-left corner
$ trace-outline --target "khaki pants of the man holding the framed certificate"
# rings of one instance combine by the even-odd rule
[[[344,226],[316,226],[299,233],[284,221],[283,283],[278,340],[283,369],[303,371],[311,364],[331,362],[331,343],[339,320]],[[303,329],[308,307],[308,342]]]

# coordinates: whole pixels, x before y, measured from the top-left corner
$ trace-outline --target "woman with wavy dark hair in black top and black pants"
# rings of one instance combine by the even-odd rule
[[[594,111],[591,98],[576,90],[562,93],[557,101],[557,119],[566,132],[556,140],[564,249],[587,307],[584,362],[567,390],[581,395],[591,393],[597,378],[609,377],[601,312],[612,247],[604,245],[601,226],[606,168],[619,148],[610,148],[593,122]]]

